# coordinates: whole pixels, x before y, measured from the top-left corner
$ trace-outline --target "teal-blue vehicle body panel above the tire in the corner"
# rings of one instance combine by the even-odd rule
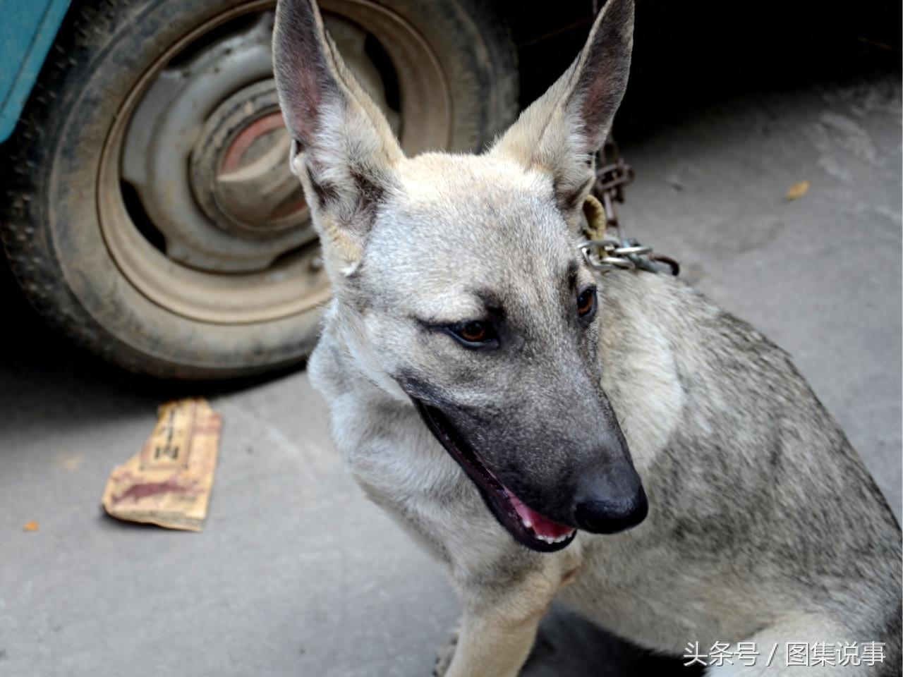
[[[0,0],[0,143],[13,134],[70,0]]]

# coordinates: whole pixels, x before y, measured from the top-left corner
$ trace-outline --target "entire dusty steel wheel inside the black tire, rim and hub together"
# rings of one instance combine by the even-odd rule
[[[135,82],[98,173],[104,242],[128,282],[165,311],[223,325],[287,320],[329,298],[276,106],[275,0],[232,2]],[[423,38],[372,0],[321,2],[405,152],[447,147],[450,95]]]

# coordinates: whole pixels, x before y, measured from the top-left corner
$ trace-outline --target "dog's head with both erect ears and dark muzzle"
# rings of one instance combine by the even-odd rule
[[[613,533],[647,502],[600,386],[574,227],[626,87],[632,0],[480,155],[405,158],[308,0],[281,0],[276,82],[337,301],[373,384],[414,402],[520,543]]]

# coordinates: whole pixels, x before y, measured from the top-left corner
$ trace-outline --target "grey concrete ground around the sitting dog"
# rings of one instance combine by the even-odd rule
[[[898,516],[900,142],[898,74],[740,97],[629,144],[622,210],[631,235],[789,350]],[[345,475],[303,371],[207,391],[225,427],[202,533],[120,524],[99,510],[107,474],[184,389],[98,365],[5,293],[0,675],[430,672],[452,591]],[[525,675],[636,674],[640,660],[555,608]]]

